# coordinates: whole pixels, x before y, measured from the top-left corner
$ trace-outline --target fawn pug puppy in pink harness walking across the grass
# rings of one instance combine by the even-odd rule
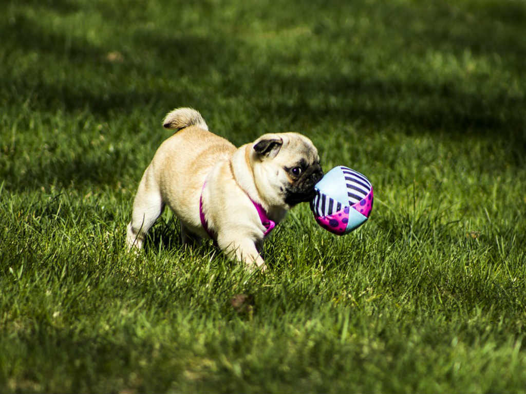
[[[127,227],[128,249],[143,246],[167,205],[183,243],[211,238],[231,259],[265,270],[263,240],[290,208],[315,196],[323,171],[316,147],[298,133],[265,134],[236,148],[208,131],[192,108],[168,113],[176,130],[144,171]]]

